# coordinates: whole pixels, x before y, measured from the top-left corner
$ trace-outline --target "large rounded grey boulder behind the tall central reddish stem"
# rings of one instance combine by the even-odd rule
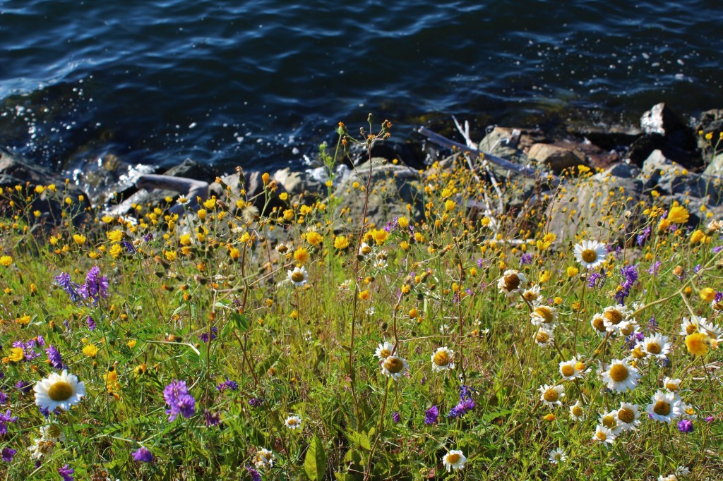
[[[381,228],[394,217],[406,216],[421,220],[424,212],[424,187],[419,172],[406,165],[382,162],[379,158],[372,159],[372,183],[367,207],[369,222]],[[335,217],[345,208],[348,212],[343,216],[344,219],[351,217],[361,220],[364,215],[362,188],[367,185],[369,162],[359,165],[356,172],[358,174],[352,172],[334,192],[335,199],[341,201],[335,207]],[[359,182],[359,188],[354,188],[354,182]],[[406,204],[411,205],[411,213],[407,211]]]

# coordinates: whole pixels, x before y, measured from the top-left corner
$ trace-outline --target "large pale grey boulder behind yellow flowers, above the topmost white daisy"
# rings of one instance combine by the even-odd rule
[[[625,240],[641,223],[638,216],[643,182],[636,178],[612,175],[614,168],[586,179],[576,179],[560,188],[557,199],[547,207],[549,232],[558,239],[574,239],[583,234],[587,239]],[[624,204],[615,199],[622,191],[627,197]],[[625,212],[630,212],[625,215]]]

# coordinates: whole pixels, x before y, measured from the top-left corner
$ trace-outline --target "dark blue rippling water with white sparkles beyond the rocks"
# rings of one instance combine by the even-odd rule
[[[301,168],[335,123],[723,107],[723,1],[0,0],[0,144]]]

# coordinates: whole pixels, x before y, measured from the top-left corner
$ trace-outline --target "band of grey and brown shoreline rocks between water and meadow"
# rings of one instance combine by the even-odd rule
[[[669,198],[669,202],[688,203],[691,208],[690,224],[699,220],[696,213],[709,211],[714,217],[723,217],[723,142],[716,142],[723,131],[723,109],[708,110],[698,118],[683,121],[666,105],[660,103],[643,113],[639,126],[634,129],[605,129],[596,126],[569,126],[563,134],[550,134],[525,126],[494,126],[476,146],[489,155],[534,168],[537,178],[523,178],[519,173],[490,163],[482,181],[518,186],[514,194],[505,197],[504,212],[519,212],[531,206],[538,211],[547,209],[549,229],[560,238],[574,233],[579,227],[576,219],[584,219],[588,225],[596,225],[602,209],[594,199],[612,189],[625,191],[628,202],[620,210],[621,225],[634,228],[636,206],[643,199]],[[430,175],[429,167],[434,160],[437,169],[448,168],[458,156],[445,147],[429,142],[419,136],[418,142],[375,142],[372,146],[372,186],[367,217],[370,222],[382,225],[393,217],[412,215],[421,219],[424,213],[424,179]],[[367,153],[351,149],[348,157],[337,166],[332,191],[343,199],[343,207],[350,209],[355,217],[361,217],[364,196],[356,195],[358,184],[364,185],[369,173]],[[356,172],[352,168],[356,166]],[[581,167],[583,166],[583,167]],[[245,188],[249,199],[256,199],[257,209],[264,207],[262,199],[262,172],[242,171],[224,174],[213,166],[194,160],[184,160],[163,172],[155,172],[149,166],[124,166],[118,159],[108,156],[93,173],[102,182],[93,183],[90,175],[81,176],[80,185],[69,183],[72,194],[84,199],[87,206],[103,209],[112,215],[133,215],[134,206],[161,205],[171,207],[179,191],[152,188],[144,175],[161,174],[174,178],[187,178],[208,184],[212,196],[223,195],[216,178],[239,194]],[[596,172],[586,183],[570,183],[568,180],[587,170]],[[564,173],[562,183],[565,195],[559,196],[555,206],[545,204],[544,199],[554,196],[557,183],[551,178]],[[324,168],[294,171],[284,168],[270,173],[278,184],[278,193],[286,191],[294,202],[311,204],[324,202],[328,193],[328,180]],[[97,181],[97,179],[96,179]],[[0,187],[14,188],[18,184],[46,186],[50,183],[64,185],[65,178],[44,168],[33,165],[11,152],[0,150]],[[100,185],[100,187],[98,187]],[[519,188],[522,186],[522,188]],[[145,187],[145,188],[144,188]],[[203,191],[204,189],[202,189]],[[558,191],[559,192],[559,191]],[[186,192],[181,192],[186,194]],[[548,194],[547,196],[544,194]],[[202,195],[203,196],[203,195]],[[408,207],[407,207],[408,204]],[[569,204],[564,209],[564,204]],[[276,207],[283,207],[282,204]],[[49,197],[40,196],[33,210],[41,215],[35,222],[53,225],[59,222],[60,205]],[[576,211],[570,216],[570,211]],[[608,212],[609,214],[609,212]],[[633,216],[633,220],[631,220]],[[76,222],[82,222],[82,216]]]

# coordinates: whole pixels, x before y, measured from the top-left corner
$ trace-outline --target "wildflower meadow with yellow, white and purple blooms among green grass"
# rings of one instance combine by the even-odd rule
[[[390,126],[340,124],[329,172]],[[521,186],[479,161],[419,173],[424,212],[377,225],[344,209],[363,182],[270,212],[227,196],[123,218],[66,186],[4,188],[0,472],[722,477],[722,220],[611,191],[602,222],[557,238],[555,203],[593,172],[508,209]],[[64,206],[44,228],[38,196]]]

